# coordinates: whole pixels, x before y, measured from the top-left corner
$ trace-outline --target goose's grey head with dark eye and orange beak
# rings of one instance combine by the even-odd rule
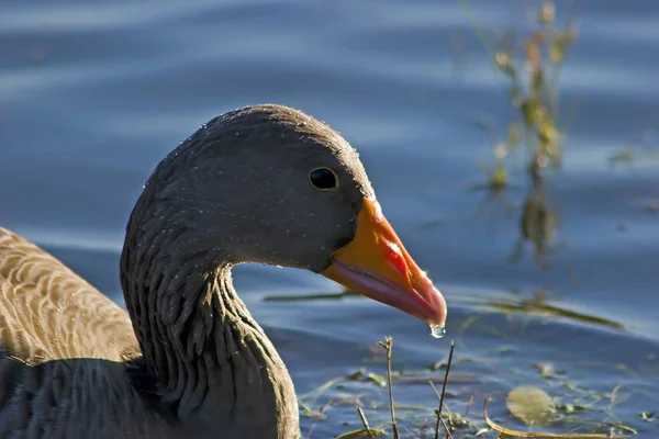
[[[214,119],[144,193],[136,211],[179,227],[179,254],[311,270],[444,327],[446,302],[384,217],[358,154],[300,111],[264,104]]]

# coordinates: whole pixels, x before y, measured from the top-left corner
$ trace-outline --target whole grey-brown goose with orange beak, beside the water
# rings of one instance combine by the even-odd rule
[[[232,267],[306,269],[443,328],[446,302],[357,151],[288,106],[216,116],[148,178],[125,309],[0,228],[0,438],[298,438],[298,402]]]

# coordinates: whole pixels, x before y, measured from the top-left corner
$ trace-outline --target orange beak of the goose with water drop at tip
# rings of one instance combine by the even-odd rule
[[[349,290],[444,327],[446,301],[418,268],[375,200],[364,200],[355,239],[321,272]]]

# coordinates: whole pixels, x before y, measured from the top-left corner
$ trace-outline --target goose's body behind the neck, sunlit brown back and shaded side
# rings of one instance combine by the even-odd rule
[[[126,312],[2,227],[0,309],[0,438],[167,437],[131,380]]]

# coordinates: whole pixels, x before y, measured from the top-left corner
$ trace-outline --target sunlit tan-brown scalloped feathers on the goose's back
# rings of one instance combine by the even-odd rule
[[[0,344],[34,365],[138,353],[125,311],[58,259],[0,227]]]

